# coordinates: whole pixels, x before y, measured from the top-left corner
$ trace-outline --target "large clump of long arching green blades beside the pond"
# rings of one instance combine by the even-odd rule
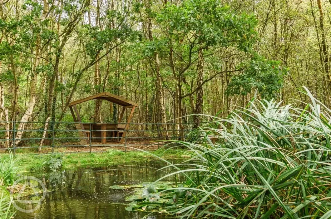
[[[207,134],[202,144],[179,142],[192,157],[168,163],[175,171],[165,177],[187,181],[134,207],[159,205],[178,218],[331,218],[331,110],[306,91],[304,109],[253,100],[214,118],[217,128],[201,130],[216,143]]]

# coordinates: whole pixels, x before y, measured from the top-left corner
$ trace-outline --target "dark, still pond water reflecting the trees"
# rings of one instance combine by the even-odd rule
[[[113,185],[153,182],[164,176],[157,171],[165,163],[146,162],[98,168],[78,168],[47,174],[32,174],[45,183],[48,190],[38,210],[17,211],[16,219],[140,219],[146,212],[126,211],[125,195],[130,190],[110,189]],[[170,178],[163,181],[173,181]],[[28,198],[27,198],[28,199]],[[148,219],[169,218],[152,214]]]

